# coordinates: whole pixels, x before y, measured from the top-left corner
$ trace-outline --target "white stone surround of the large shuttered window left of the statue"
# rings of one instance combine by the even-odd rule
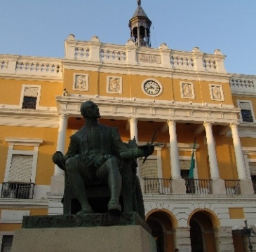
[[[8,155],[6,160],[6,174],[4,176],[4,182],[8,182],[9,172],[11,167],[11,160],[13,155],[32,155],[32,174],[31,174],[31,182],[35,183],[36,181],[36,165],[37,165],[37,158],[39,152],[39,145],[43,143],[41,139],[22,139],[22,138],[6,138],[6,142],[8,142]],[[13,147],[15,145],[20,146],[34,146],[34,151],[19,151],[14,150]]]

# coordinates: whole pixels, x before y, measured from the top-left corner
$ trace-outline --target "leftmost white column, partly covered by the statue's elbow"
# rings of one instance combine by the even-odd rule
[[[61,151],[63,154],[65,154],[64,152],[65,152],[66,128],[67,128],[67,115],[60,114],[57,151]],[[58,165],[55,165],[54,175],[58,175],[58,174],[63,174],[63,171],[58,167]]]

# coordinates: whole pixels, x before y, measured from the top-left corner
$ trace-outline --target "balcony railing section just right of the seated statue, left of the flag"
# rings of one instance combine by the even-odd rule
[[[144,193],[169,195],[171,192],[171,179],[144,178]]]

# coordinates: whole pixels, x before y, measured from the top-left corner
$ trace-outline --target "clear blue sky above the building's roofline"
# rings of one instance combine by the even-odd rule
[[[137,0],[0,0],[0,54],[64,57],[69,34],[125,44]],[[255,0],[142,0],[151,46],[224,55],[229,73],[256,74]]]

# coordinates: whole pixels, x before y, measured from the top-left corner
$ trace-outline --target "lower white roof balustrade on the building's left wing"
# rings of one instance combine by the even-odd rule
[[[60,59],[53,58],[0,55],[1,74],[60,79],[62,78],[62,63]]]

